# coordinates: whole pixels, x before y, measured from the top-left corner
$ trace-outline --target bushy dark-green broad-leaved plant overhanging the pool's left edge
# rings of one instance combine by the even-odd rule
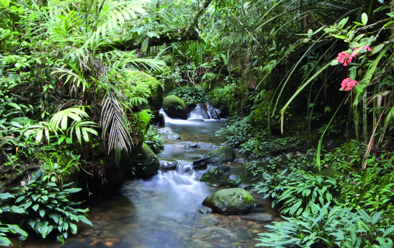
[[[92,226],[86,219],[89,209],[76,208],[82,202],[71,202],[69,197],[72,193],[81,191],[80,188],[60,190],[54,182],[45,181],[46,173],[40,168],[29,178],[24,186],[17,188],[15,204],[23,208],[28,215],[24,216],[22,225],[32,228],[35,232],[45,238],[53,230],[57,230],[58,241],[67,239],[67,232],[77,232],[77,226],[73,222],[82,221]],[[70,186],[72,183],[62,185]]]

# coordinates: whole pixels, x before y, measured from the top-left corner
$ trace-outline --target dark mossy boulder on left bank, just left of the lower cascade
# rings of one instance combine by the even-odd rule
[[[160,169],[159,159],[146,143],[142,144],[141,154],[138,156],[135,165],[135,176],[141,178],[153,176]]]

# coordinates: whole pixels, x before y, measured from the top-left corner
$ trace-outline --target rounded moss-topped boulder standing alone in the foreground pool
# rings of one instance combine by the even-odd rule
[[[247,213],[255,205],[255,199],[245,189],[221,189],[204,199],[203,205],[219,213]]]

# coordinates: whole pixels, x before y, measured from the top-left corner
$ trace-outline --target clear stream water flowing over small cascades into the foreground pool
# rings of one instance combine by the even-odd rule
[[[78,234],[70,236],[64,248],[246,248],[257,243],[257,233],[266,230],[263,223],[238,215],[196,211],[217,188],[196,180],[204,171],[195,172],[189,166],[220,145],[215,132],[225,127],[223,121],[174,120],[166,116],[165,125],[182,139],[166,140],[158,157],[178,161],[177,171],[159,171],[149,179],[129,180],[101,203],[89,200],[88,214],[94,226],[79,224]],[[190,142],[199,142],[199,147],[188,147]],[[257,196],[255,200],[264,206],[265,213],[275,215],[270,202]],[[22,244],[22,247],[59,246],[48,239],[30,239]]]

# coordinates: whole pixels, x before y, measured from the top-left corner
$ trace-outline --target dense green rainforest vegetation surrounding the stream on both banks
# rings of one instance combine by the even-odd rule
[[[390,0],[0,0],[0,245],[154,175],[179,101],[284,217],[257,246],[391,248],[393,51]]]

